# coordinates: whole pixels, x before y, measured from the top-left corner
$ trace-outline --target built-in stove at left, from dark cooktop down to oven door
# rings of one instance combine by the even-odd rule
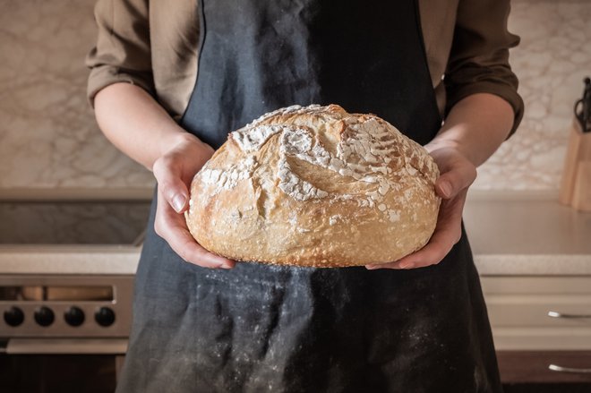
[[[0,391],[113,391],[149,201],[0,201]]]

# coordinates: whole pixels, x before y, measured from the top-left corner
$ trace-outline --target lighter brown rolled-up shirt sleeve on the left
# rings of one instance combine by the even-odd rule
[[[99,0],[95,5],[99,34],[86,56],[90,105],[99,90],[122,81],[153,95],[148,10],[148,0]]]

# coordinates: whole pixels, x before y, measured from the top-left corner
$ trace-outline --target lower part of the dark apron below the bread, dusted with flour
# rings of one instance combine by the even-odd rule
[[[150,229],[117,392],[501,392],[469,254],[464,235],[424,269],[211,270]]]

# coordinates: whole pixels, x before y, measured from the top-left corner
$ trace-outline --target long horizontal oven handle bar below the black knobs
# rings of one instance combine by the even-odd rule
[[[0,342],[8,355],[124,355],[127,338],[9,338]]]

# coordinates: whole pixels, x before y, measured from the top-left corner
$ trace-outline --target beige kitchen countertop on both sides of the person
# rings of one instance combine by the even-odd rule
[[[552,195],[470,194],[464,220],[481,275],[591,275],[591,213]],[[0,271],[133,274],[140,252],[131,245],[4,245]]]

